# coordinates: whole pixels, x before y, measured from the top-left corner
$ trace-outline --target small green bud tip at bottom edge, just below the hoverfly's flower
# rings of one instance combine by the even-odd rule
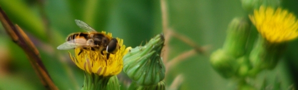
[[[119,80],[116,75],[110,78],[107,90],[120,90]]]

